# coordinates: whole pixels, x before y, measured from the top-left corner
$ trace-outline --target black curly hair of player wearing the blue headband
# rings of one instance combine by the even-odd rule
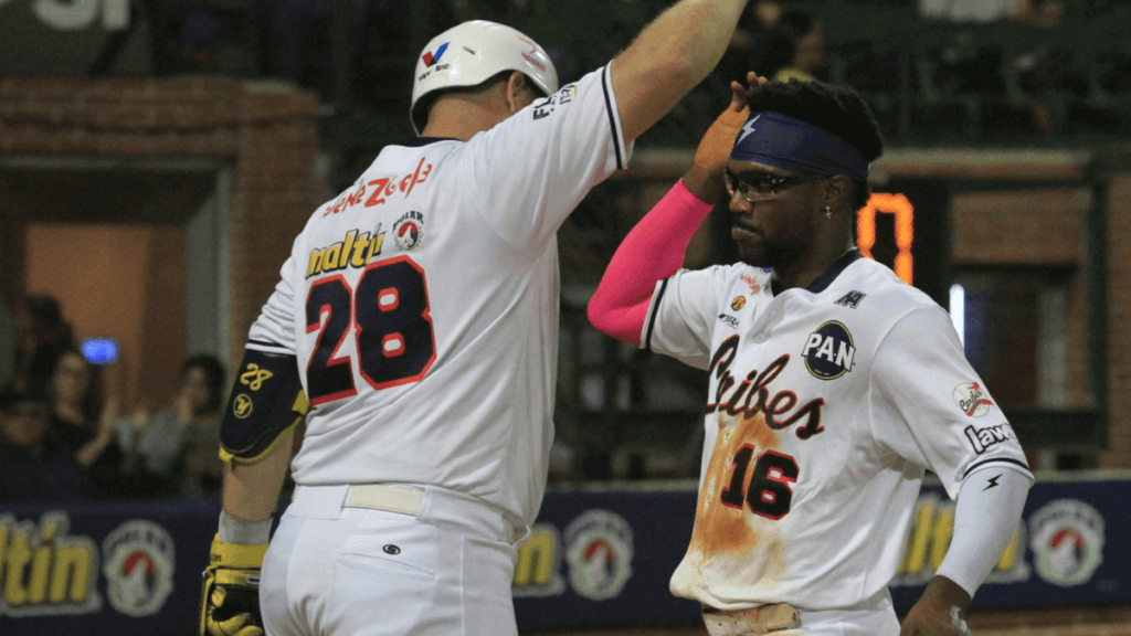
[[[751,112],[776,112],[836,135],[860,151],[869,163],[883,154],[883,136],[872,109],[858,93],[823,81],[770,81],[746,93]],[[853,209],[867,205],[866,181],[853,181]]]

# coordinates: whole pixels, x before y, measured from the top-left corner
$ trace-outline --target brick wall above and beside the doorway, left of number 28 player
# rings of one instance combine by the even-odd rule
[[[271,81],[6,77],[0,154],[231,162],[231,324],[239,360],[294,237],[325,199],[313,178],[317,109],[313,94]]]

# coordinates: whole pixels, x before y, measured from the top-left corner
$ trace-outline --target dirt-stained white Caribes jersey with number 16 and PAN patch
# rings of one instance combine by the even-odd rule
[[[657,284],[642,335],[710,372],[677,596],[849,607],[896,574],[924,469],[952,498],[982,467],[1031,479],[949,316],[856,251],[777,296],[767,269],[680,272]]]

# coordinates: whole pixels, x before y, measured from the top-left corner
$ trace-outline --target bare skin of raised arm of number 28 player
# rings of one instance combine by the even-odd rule
[[[715,68],[746,2],[681,0],[613,60],[625,144],[659,121]]]

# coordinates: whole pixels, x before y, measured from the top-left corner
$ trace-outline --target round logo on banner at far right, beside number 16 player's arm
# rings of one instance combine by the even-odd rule
[[[1087,583],[1104,561],[1104,517],[1078,499],[1057,499],[1029,517],[1037,575],[1053,585]]]

